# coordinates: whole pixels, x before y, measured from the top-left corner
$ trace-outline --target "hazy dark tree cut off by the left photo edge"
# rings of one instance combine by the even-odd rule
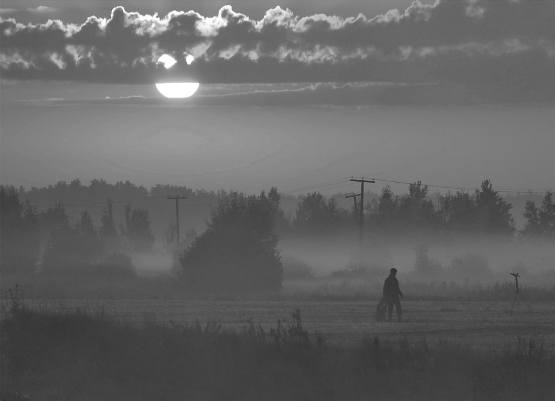
[[[19,202],[13,186],[0,186],[0,265],[2,273],[31,273],[40,254],[37,210]]]

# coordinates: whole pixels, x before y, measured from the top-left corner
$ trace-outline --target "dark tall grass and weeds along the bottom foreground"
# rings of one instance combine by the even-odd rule
[[[371,335],[327,346],[300,311],[275,328],[135,325],[103,309],[46,313],[12,299],[0,326],[0,398],[10,400],[542,400],[555,357],[541,338],[478,352]]]

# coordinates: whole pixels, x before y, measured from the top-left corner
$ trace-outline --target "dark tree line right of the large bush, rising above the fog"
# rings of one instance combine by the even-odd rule
[[[428,186],[420,181],[409,184],[408,193],[396,195],[386,185],[381,194],[364,205],[366,230],[389,237],[406,237],[427,231],[443,234],[502,234],[521,237],[555,239],[555,205],[547,192],[541,206],[527,201],[526,224],[517,230],[511,214],[512,205],[493,188],[489,180],[474,193],[457,191],[438,195],[435,205]],[[314,192],[302,197],[290,227],[305,232],[333,232],[341,227],[359,224],[359,210],[340,208],[334,199]]]

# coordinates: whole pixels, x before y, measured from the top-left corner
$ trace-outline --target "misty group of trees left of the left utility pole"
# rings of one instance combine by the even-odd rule
[[[87,210],[71,219],[63,202],[39,212],[21,202],[13,186],[0,186],[0,258],[2,273],[134,275],[126,253],[151,251],[154,234],[148,210],[125,205],[125,220],[116,224],[107,200],[101,225]]]

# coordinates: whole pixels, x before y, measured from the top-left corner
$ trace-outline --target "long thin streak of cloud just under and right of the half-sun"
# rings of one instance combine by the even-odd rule
[[[135,105],[142,107],[198,106],[349,106],[383,104],[468,104],[452,84],[298,83],[203,85],[194,98],[123,96],[103,99],[46,99],[23,103],[40,106]]]

